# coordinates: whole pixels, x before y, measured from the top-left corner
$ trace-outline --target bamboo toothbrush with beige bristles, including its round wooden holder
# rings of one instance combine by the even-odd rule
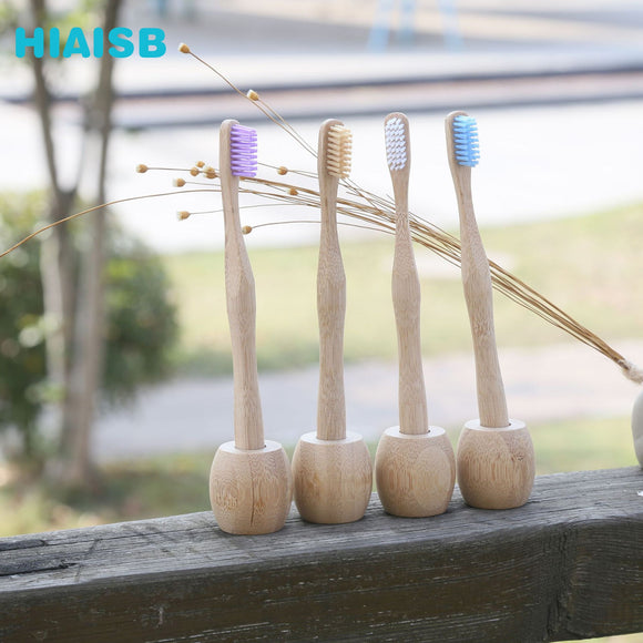
[[[359,520],[372,490],[370,455],[361,436],[346,431],[344,398],[346,276],[337,236],[337,188],[350,171],[350,130],[340,121],[322,124],[317,155],[322,206],[317,431],[302,436],[293,456],[297,509],[304,520],[320,523]]]

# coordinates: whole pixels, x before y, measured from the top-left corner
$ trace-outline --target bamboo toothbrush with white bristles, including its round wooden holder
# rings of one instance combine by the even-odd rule
[[[409,212],[409,124],[404,114],[385,119],[386,155],[396,205],[392,302],[399,353],[399,427],[387,429],[377,448],[377,491],[388,513],[443,513],[453,492],[456,459],[445,429],[429,426],[420,340],[420,280]]]

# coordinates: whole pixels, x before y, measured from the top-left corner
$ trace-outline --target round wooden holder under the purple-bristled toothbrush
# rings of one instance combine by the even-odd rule
[[[210,470],[210,502],[218,527],[228,533],[273,533],[284,527],[293,498],[288,456],[266,440],[263,449],[223,443]]]

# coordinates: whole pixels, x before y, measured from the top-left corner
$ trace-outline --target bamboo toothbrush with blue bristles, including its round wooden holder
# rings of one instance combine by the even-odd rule
[[[471,196],[478,129],[466,112],[447,116],[447,153],[460,213],[462,284],[471,324],[480,418],[465,423],[458,442],[458,484],[468,504],[511,509],[527,502],[534,478],[533,445],[524,422],[511,420],[493,328],[489,262]]]

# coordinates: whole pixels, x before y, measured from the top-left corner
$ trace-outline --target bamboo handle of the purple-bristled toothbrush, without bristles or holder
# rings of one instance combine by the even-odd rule
[[[237,449],[263,449],[255,340],[255,280],[241,228],[238,177],[229,169],[229,132],[236,121],[222,124],[221,192],[225,218],[225,293],[234,369],[234,439]]]

